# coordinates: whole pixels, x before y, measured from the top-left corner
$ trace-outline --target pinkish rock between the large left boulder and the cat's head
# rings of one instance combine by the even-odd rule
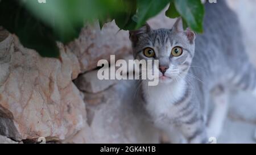
[[[67,47],[77,56],[82,73],[97,68],[98,60],[110,60],[110,55],[120,58],[131,53],[129,32],[119,30],[114,21],[106,23],[102,30],[98,23],[86,26],[79,39]]]

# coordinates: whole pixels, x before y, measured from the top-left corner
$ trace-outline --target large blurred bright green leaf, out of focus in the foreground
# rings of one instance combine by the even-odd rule
[[[129,1],[129,0],[126,0]],[[84,23],[100,22],[100,27],[125,10],[121,0],[27,0],[27,9],[53,28],[56,40],[68,43],[79,36]]]

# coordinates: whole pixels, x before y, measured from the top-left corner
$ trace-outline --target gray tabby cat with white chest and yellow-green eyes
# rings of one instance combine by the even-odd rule
[[[146,25],[130,31],[135,59],[159,60],[159,84],[142,81],[144,107],[156,127],[172,143],[207,143],[217,137],[228,108],[230,89],[256,94],[256,70],[249,63],[236,14],[225,1],[205,4],[204,33],[183,30],[181,19],[172,29]],[[209,117],[209,99],[214,110]]]

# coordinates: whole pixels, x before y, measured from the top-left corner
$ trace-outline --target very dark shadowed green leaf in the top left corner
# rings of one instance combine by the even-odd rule
[[[35,49],[43,57],[59,57],[52,29],[15,0],[0,1],[0,25],[15,33],[24,47]]]

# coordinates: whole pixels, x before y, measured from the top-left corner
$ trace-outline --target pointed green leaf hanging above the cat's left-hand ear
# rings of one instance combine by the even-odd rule
[[[160,11],[166,7],[166,5],[170,2],[170,0],[138,0],[138,21],[136,28],[143,26],[148,19],[157,15]]]

